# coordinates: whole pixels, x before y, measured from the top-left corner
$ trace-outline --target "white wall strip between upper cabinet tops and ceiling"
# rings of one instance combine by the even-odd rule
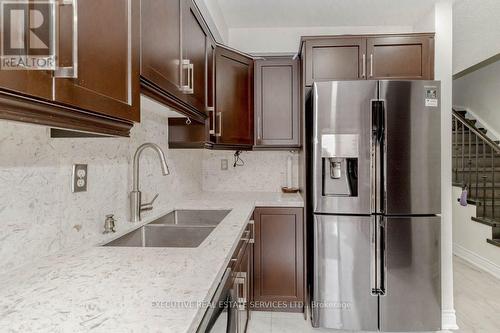
[[[231,28],[229,46],[248,53],[297,53],[301,36],[412,31],[412,26]]]

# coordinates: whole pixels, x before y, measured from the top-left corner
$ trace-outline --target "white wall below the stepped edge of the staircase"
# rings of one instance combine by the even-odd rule
[[[453,196],[459,198],[461,189],[453,188]],[[486,242],[491,238],[491,227],[474,222],[476,206],[453,203],[453,252],[455,255],[481,267],[500,278],[500,248]]]

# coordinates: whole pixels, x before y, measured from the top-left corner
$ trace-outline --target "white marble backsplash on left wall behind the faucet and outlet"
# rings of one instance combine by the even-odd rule
[[[141,161],[144,200],[155,209],[202,188],[201,150],[168,149],[168,109],[143,98],[142,121],[130,138],[51,139],[48,128],[0,120],[0,273],[61,249],[102,237],[106,214],[128,223],[132,156],[144,142],[159,144],[171,175],[161,175],[155,152]],[[74,163],[88,164],[88,191],[71,193]]]

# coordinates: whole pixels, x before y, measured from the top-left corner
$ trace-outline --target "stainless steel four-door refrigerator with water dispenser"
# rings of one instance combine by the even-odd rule
[[[313,94],[313,326],[440,330],[440,82]]]

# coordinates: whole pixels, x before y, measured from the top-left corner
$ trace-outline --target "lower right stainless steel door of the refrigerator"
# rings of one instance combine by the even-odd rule
[[[385,218],[380,330],[441,329],[440,217]]]

